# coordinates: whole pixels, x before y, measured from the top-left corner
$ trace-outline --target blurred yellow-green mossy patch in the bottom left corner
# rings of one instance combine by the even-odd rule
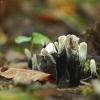
[[[0,91],[0,100],[43,100],[42,97],[35,97],[26,91],[11,89]]]

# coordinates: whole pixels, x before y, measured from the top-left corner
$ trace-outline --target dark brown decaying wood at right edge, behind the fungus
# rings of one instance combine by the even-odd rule
[[[95,22],[91,29],[88,29],[81,34],[81,40],[88,45],[88,52],[97,53],[100,55],[100,21]]]

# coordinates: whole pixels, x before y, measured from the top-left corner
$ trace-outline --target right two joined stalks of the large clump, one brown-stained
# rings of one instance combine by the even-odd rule
[[[82,68],[86,60],[87,44],[78,45],[79,38],[75,35],[67,35],[65,47],[67,52],[67,70],[69,73],[69,87],[79,85]]]

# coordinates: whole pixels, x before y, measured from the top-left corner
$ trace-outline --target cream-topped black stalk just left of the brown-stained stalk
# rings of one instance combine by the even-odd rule
[[[59,83],[59,80],[62,76],[65,77],[66,73],[66,62],[67,62],[67,56],[66,56],[66,50],[65,50],[65,40],[66,36],[60,36],[58,38],[58,42],[55,41],[55,47],[57,50],[57,56],[54,57],[56,60],[56,77],[57,77],[57,85]]]

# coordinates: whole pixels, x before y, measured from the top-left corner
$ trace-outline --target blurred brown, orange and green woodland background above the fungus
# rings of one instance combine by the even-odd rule
[[[63,34],[79,36],[99,19],[100,0],[0,0],[0,50],[28,47],[15,38],[33,32],[51,41]]]

